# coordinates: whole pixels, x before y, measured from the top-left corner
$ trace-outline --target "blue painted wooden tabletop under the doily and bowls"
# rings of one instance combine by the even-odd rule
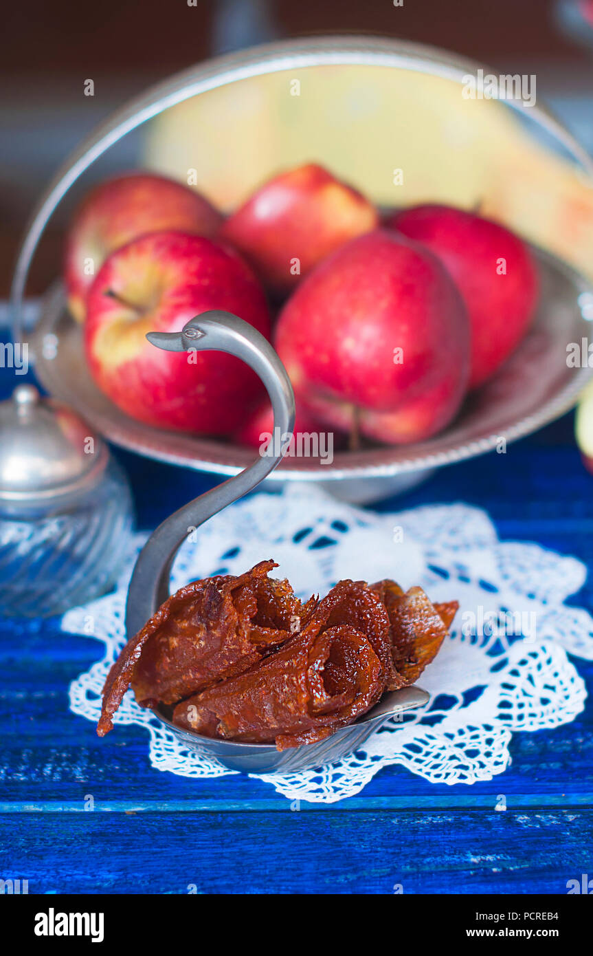
[[[0,370],[0,397],[11,383]],[[380,508],[473,503],[502,539],[593,567],[593,476],[572,428],[566,416]],[[212,484],[116,454],[142,529]],[[590,580],[575,603],[593,611]],[[434,786],[392,767],[355,797],[296,812],[243,775],[192,781],[153,770],[141,728],[99,740],[67,701],[99,655],[57,619],[0,621],[0,878],[29,880],[32,893],[180,894],[191,884],[201,893],[392,893],[401,884],[404,893],[565,894],[567,880],[593,877],[591,705],[570,725],[517,734],[510,769],[490,783]],[[593,664],[575,663],[590,690]],[[506,812],[495,810],[500,793]]]

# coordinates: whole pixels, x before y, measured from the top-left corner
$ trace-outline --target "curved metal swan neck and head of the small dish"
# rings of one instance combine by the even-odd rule
[[[274,412],[273,442],[266,453],[217,488],[184,505],[166,518],[138,554],[126,604],[128,638],[137,634],[169,597],[171,567],[190,532],[262,482],[281,461],[294,426],[294,393],[286,369],[269,342],[253,326],[228,312],[196,315],[181,332],[147,335],[169,352],[226,352],[243,359],[264,382]]]

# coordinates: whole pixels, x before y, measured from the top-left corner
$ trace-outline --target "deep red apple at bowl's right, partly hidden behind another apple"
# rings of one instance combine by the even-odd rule
[[[472,328],[470,388],[490,378],[527,332],[538,301],[538,273],[519,236],[473,212],[415,206],[391,228],[441,259],[463,295]]]

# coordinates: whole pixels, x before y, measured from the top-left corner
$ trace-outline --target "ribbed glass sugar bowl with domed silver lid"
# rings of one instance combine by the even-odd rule
[[[66,405],[0,402],[0,613],[61,614],[110,590],[133,524],[127,480]]]

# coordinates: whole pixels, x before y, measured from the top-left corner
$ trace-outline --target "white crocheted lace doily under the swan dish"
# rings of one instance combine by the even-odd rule
[[[238,575],[272,557],[280,565],[274,576],[287,577],[299,597],[323,596],[342,577],[392,577],[405,588],[421,585],[432,600],[459,601],[451,637],[418,682],[430,703],[403,723],[389,722],[338,763],[260,777],[290,800],[343,799],[390,764],[434,783],[490,780],[509,764],[513,732],[558,727],[582,710],[584,684],[566,651],[593,659],[593,619],[562,601],[581,588],[585,567],[535,544],[499,542],[484,511],[457,504],[378,515],[293,485],[247,498],[195,536],[176,561],[175,588]],[[124,643],[127,585],[144,539],[135,536],[115,593],[62,619],[63,630],[105,644],[102,660],[70,687],[74,713],[94,722]],[[114,722],[147,728],[150,760],[160,771],[195,778],[235,772],[186,750],[131,691]]]

